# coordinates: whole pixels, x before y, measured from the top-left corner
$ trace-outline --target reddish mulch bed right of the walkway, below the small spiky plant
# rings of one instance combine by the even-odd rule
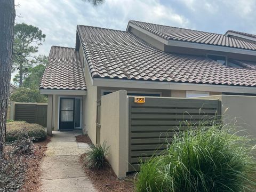
[[[81,163],[83,164],[86,175],[92,180],[95,188],[100,192],[131,192],[134,191],[134,175],[131,175],[125,179],[118,179],[110,166],[105,167],[102,170],[90,170],[86,167],[85,159],[86,153],[81,155]]]

